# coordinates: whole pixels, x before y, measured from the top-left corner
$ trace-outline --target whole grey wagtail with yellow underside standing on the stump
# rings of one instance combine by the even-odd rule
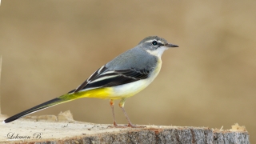
[[[38,110],[78,98],[107,98],[110,99],[113,118],[114,100],[121,99],[119,106],[126,116],[128,126],[136,127],[130,122],[124,109],[126,98],[130,98],[145,89],[157,77],[162,66],[162,53],[170,47],[178,46],[170,44],[164,38],[158,36],[144,38],[138,43],[138,46],[118,55],[118,57],[95,71],[77,89],[15,114],[4,120],[3,123],[12,122]],[[118,126],[115,118],[114,126]]]

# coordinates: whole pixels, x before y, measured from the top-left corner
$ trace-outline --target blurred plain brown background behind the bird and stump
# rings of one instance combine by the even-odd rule
[[[158,35],[180,46],[126,101],[134,124],[246,126],[256,138],[256,1],[7,1],[0,6],[2,114],[73,90],[100,66]],[[118,103],[118,102],[116,102]],[[108,100],[83,98],[42,110],[112,123]],[[118,123],[126,123],[115,106]]]

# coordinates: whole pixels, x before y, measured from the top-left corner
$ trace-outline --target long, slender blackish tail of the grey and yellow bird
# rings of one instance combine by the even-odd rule
[[[22,111],[21,113],[18,113],[18,114],[15,114],[14,116],[11,116],[10,118],[7,118],[6,120],[3,121],[3,123],[8,123],[8,122],[12,122],[18,118],[22,118],[28,114],[32,114],[34,112],[37,112],[39,110],[43,110],[43,109],[46,109],[50,106],[55,106],[55,105],[58,105],[60,103],[63,103],[63,102],[68,102],[69,100],[66,100],[66,99],[63,99],[63,98],[54,98],[50,101],[47,101],[47,102],[43,102],[42,104],[38,105],[38,106],[34,106],[32,108],[30,108],[29,110],[25,110],[25,111]]]

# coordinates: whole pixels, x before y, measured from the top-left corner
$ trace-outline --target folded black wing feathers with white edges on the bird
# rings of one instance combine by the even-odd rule
[[[150,70],[126,69],[126,70],[108,70],[102,66],[94,72],[82,85],[69,93],[75,93],[80,90],[91,90],[99,87],[118,86],[130,82],[136,82],[140,79],[148,78]]]

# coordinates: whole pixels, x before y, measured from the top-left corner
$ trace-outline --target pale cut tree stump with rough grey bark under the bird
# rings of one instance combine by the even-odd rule
[[[2,116],[0,120],[4,120]],[[230,130],[207,127],[149,126],[114,128],[106,124],[74,121],[70,111],[27,116],[0,124],[0,143],[250,143],[244,126]]]

